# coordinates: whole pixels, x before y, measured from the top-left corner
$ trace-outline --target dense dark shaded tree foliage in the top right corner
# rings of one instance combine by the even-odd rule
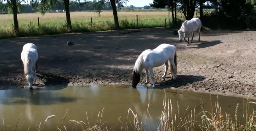
[[[211,28],[254,29],[256,23],[255,0],[215,0],[214,12],[204,12],[200,18]]]

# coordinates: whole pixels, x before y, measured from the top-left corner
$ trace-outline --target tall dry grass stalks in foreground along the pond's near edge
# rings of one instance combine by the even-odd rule
[[[256,129],[256,118],[255,118],[255,111],[253,110],[252,113],[249,113],[249,103],[256,104],[255,102],[249,102],[249,99],[247,98],[246,101],[246,109],[245,112],[243,112],[244,117],[244,125],[238,122],[237,119],[237,109],[239,106],[239,103],[236,105],[235,110],[235,116],[232,118],[231,115],[227,113],[221,112],[221,107],[219,106],[218,98],[214,106],[212,106],[212,99],[211,99],[211,109],[210,111],[206,111],[204,109],[204,103],[202,99],[200,100],[202,112],[199,114],[195,114],[196,107],[194,110],[191,110],[189,113],[180,114],[179,112],[179,103],[177,103],[178,113],[173,112],[173,105],[171,99],[166,100],[166,96],[163,98],[163,109],[161,117],[160,117],[160,123],[159,126],[156,127],[153,130],[157,131],[174,131],[174,130],[185,130],[185,131],[195,131],[195,130],[202,130],[202,131],[252,131]],[[149,103],[148,103],[148,109],[149,109]],[[135,131],[142,131],[146,129],[147,124],[147,118],[149,116],[150,119],[150,113],[147,109],[146,114],[146,121],[145,123],[142,123],[138,119],[138,115],[136,112],[133,112],[131,108],[128,109],[127,112],[127,118],[125,120],[121,120],[120,118],[117,118],[118,121],[121,123],[120,130],[135,130]],[[188,108],[186,109],[186,111]],[[96,123],[92,124],[89,123],[88,114],[86,112],[87,122],[84,121],[77,121],[77,120],[69,120],[70,123],[74,123],[74,126],[72,128],[75,129],[77,127],[80,127],[82,130],[88,130],[88,131],[111,131],[116,128],[116,125],[112,125],[111,127],[106,127],[104,124],[106,122],[102,122],[103,117],[103,111],[98,113],[97,121]],[[68,110],[67,110],[68,112]],[[64,120],[66,118],[67,112],[65,113],[62,122],[59,126],[56,127],[56,130],[66,130],[67,128],[63,125]],[[133,117],[133,121],[128,121],[128,116]],[[35,116],[35,115],[34,115]],[[196,121],[195,117],[201,116],[201,121]],[[43,130],[44,131],[44,125],[46,122],[48,122],[50,119],[55,117],[55,115],[48,116],[44,120],[44,124],[42,124],[42,121],[39,123],[39,126],[37,127],[37,131]],[[34,118],[34,117],[33,117]],[[15,130],[17,129],[17,125],[19,122],[20,116],[18,118]],[[32,123],[33,119],[31,120]],[[120,124],[119,123],[119,124]],[[116,123],[117,124],[117,123]],[[142,125],[145,125],[144,127]],[[28,130],[30,128],[31,124],[28,127]],[[4,130],[4,117],[3,117],[3,130]]]

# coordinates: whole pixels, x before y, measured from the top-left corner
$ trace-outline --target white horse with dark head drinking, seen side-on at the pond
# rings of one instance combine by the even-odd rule
[[[146,84],[148,84],[148,70],[150,72],[150,78],[152,80],[152,87],[155,87],[155,81],[153,77],[153,68],[165,64],[165,72],[162,78],[166,76],[167,69],[169,67],[168,60],[171,62],[171,73],[173,79],[176,79],[177,74],[177,55],[176,47],[170,44],[160,44],[153,50],[144,50],[137,58],[133,71],[132,71],[132,87],[136,88],[140,82],[140,74],[145,69],[146,72]]]

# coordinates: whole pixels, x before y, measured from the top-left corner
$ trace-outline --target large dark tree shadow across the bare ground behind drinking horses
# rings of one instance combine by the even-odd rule
[[[117,34],[118,32],[120,31],[1,40],[1,44],[8,44],[1,46],[0,50],[0,55],[6,56],[0,61],[0,72],[3,72],[0,78],[10,79],[9,74],[21,76],[23,65],[17,60],[20,59],[19,52],[22,46],[29,42],[37,46],[38,71],[42,73],[39,73],[38,78],[45,85],[67,84],[69,80],[79,78],[88,80],[83,80],[81,83],[126,82],[130,81],[127,79],[142,51],[154,49],[161,43],[176,45],[179,51],[189,50],[185,48],[186,43],[179,42],[177,35],[173,35],[172,31],[164,28],[141,29],[140,32],[130,34]],[[206,41],[209,39],[207,38]],[[72,41],[75,45],[68,46],[67,41]],[[214,45],[214,43],[205,44]],[[200,48],[204,46],[204,44],[199,45]],[[9,55],[6,55],[7,53]],[[127,65],[129,68],[122,67]],[[123,80],[124,78],[127,79]],[[26,83],[26,81],[22,78],[19,83]]]

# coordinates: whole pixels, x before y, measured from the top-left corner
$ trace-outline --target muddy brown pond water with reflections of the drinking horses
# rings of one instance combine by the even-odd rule
[[[170,89],[147,89],[144,87],[133,89],[130,85],[54,86],[36,87],[34,90],[16,88],[0,90],[0,96],[0,117],[4,119],[4,122],[0,120],[1,129],[15,130],[18,121],[17,130],[19,131],[28,130],[28,128],[32,131],[38,130],[38,128],[42,130],[43,127],[44,130],[57,130],[61,125],[65,126],[61,126],[61,130],[65,130],[65,128],[68,131],[82,129],[80,126],[74,127],[75,123],[69,120],[83,121],[88,127],[92,127],[97,123],[98,114],[100,112],[101,116],[103,108],[101,122],[100,116],[98,119],[98,125],[105,122],[102,128],[121,130],[123,124],[130,125],[130,129],[132,126],[134,127],[132,112],[127,117],[128,109],[131,108],[137,114],[138,120],[142,122],[143,130],[146,122],[146,130],[155,131],[160,124],[161,113],[164,111],[164,96],[166,96],[166,100],[171,98],[173,120],[175,119],[175,113],[177,113],[177,116],[179,113],[180,117],[184,119],[184,117],[190,116],[191,110],[194,112],[196,107],[195,120],[199,123],[202,116],[201,114],[196,116],[202,111],[199,99],[202,98],[203,106],[207,111],[210,111],[212,100],[213,112],[215,112],[217,99],[216,95],[210,96],[210,94],[204,93],[177,92]],[[246,99],[219,95],[218,101],[221,112],[224,115],[227,112],[231,116],[235,115],[236,105],[239,103],[237,117],[243,123],[243,111],[245,112],[243,108],[245,108]],[[148,103],[150,103],[149,108]],[[251,103],[249,105],[249,112],[252,112],[256,105]],[[147,115],[147,108],[151,118]],[[45,119],[51,115],[55,116],[45,122]],[[2,123],[4,123],[4,126]],[[180,125],[182,124],[182,121],[180,121]],[[84,124],[82,125],[86,128]],[[124,125],[122,130],[125,130]],[[177,125],[178,120],[176,121]],[[180,130],[184,130],[184,127],[180,127]]]

